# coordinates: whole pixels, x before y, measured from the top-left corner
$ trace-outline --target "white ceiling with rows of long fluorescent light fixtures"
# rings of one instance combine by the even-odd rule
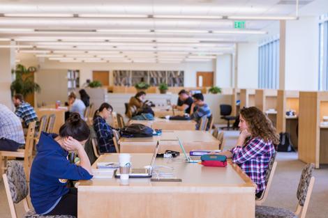
[[[282,16],[295,17],[295,2],[0,1],[0,40],[61,62],[211,61],[233,53],[236,42],[265,35]],[[300,0],[299,8],[308,3]],[[235,20],[245,28],[234,29]]]

